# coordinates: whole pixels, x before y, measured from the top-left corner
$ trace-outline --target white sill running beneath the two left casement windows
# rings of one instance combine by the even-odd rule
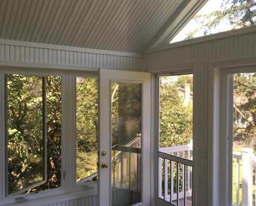
[[[16,202],[10,202],[10,203],[3,203],[1,202],[1,206],[43,206],[47,204],[54,204],[58,202],[64,202],[72,199],[78,199],[81,197],[88,197],[92,195],[97,194],[97,187],[89,188],[89,189],[83,189],[79,191],[72,191],[67,193],[62,193],[58,195],[49,195],[46,197],[38,197],[34,199],[27,199],[24,201],[16,201]]]

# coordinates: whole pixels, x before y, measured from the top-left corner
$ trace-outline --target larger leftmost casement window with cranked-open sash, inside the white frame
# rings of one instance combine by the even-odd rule
[[[61,186],[60,76],[6,74],[6,196]]]

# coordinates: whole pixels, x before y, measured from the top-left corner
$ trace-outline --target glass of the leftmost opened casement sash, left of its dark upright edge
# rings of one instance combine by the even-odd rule
[[[43,180],[42,97],[42,77],[7,76],[8,195]]]

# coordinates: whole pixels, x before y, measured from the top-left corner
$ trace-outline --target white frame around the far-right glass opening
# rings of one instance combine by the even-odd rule
[[[213,66],[213,178],[212,204],[232,206],[232,162],[233,162],[233,75],[255,72],[256,62],[218,62]],[[237,64],[237,66],[235,65]],[[218,66],[219,65],[219,66]],[[209,99],[210,101],[210,99]],[[210,180],[209,180],[210,181]],[[209,184],[211,185],[211,184]],[[209,187],[208,187],[209,188]],[[209,201],[211,201],[209,199]]]

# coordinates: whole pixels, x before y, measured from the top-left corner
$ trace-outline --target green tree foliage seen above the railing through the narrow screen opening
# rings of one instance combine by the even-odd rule
[[[160,81],[160,147],[189,144],[192,139],[192,104],[183,105],[176,83],[171,83],[168,77],[161,77]]]

